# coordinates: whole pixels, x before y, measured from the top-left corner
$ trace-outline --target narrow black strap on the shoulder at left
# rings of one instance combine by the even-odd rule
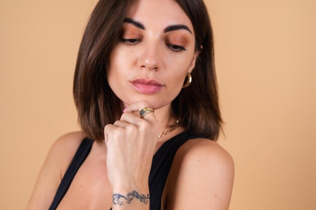
[[[87,158],[90,153],[92,147],[93,140],[88,137],[85,137],[79,146],[69,168],[67,169],[61,184],[59,185],[54,200],[52,201],[49,210],[55,210],[58,204],[63,199],[64,195],[66,194],[73,178],[75,177],[78,169],[80,168],[81,164]]]

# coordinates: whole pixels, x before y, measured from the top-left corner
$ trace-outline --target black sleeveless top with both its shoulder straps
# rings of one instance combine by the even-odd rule
[[[204,137],[202,135],[193,135],[186,131],[181,132],[166,141],[154,154],[149,172],[149,209],[161,210],[161,200],[163,190],[166,184],[173,158],[181,145],[192,138]],[[85,137],[79,146],[69,168],[67,169],[61,184],[59,185],[54,200],[49,210],[55,210],[58,204],[66,194],[74,176],[76,175],[81,164],[89,155],[93,140]],[[111,209],[112,210],[112,207]]]

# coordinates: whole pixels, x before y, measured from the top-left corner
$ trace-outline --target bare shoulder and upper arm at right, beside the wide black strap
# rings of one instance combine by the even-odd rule
[[[166,209],[228,209],[234,162],[218,143],[194,138],[177,151],[168,177]]]

